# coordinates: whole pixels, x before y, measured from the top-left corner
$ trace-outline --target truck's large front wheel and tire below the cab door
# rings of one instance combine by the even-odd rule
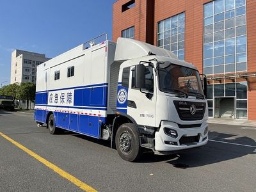
[[[116,150],[125,161],[140,159],[142,150],[140,136],[134,124],[123,124],[116,131]]]

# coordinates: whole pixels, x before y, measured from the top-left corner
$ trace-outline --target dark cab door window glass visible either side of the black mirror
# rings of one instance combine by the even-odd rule
[[[132,70],[132,88],[135,89],[135,72]],[[151,66],[145,67],[145,89],[148,92],[154,92],[154,73]]]

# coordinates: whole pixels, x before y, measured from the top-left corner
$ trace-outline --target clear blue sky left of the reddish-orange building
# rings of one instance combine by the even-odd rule
[[[54,58],[102,33],[111,40],[115,1],[0,0],[0,83],[10,83],[15,49]]]

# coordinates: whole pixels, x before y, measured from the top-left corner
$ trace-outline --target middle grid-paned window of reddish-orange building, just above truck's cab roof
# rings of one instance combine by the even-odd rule
[[[172,51],[185,59],[185,13],[157,22],[157,47]]]

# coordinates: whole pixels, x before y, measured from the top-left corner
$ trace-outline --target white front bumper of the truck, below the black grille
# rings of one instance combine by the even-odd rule
[[[164,132],[164,127],[173,129],[177,132],[177,138],[172,138]],[[178,124],[163,121],[159,131],[155,134],[154,150],[158,152],[171,152],[175,150],[184,150],[188,148],[196,148],[205,145],[208,141],[207,121],[203,122],[200,127],[179,128]]]

